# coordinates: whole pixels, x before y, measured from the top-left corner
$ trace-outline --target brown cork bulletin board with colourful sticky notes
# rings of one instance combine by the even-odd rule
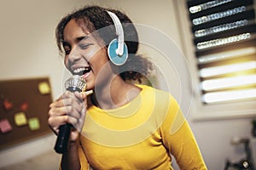
[[[0,150],[50,133],[48,77],[0,81]]]

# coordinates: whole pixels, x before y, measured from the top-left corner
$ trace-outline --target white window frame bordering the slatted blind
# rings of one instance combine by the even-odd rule
[[[254,0],[255,1],[255,0]],[[189,61],[192,76],[192,95],[190,116],[193,121],[207,121],[230,118],[248,118],[256,116],[256,100],[229,102],[214,105],[204,105],[201,102],[200,80],[198,77],[197,61],[195,57],[193,35],[190,31],[189,11],[186,0],[173,0],[177,14],[177,23],[180,31],[183,54]],[[254,6],[256,4],[254,3]],[[255,8],[255,7],[254,7]]]

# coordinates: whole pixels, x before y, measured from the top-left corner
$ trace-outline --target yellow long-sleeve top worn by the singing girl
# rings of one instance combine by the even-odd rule
[[[91,106],[80,137],[82,169],[207,169],[175,99],[139,85],[141,93],[118,109]]]

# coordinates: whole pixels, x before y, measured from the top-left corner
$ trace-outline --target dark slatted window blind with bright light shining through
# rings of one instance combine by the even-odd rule
[[[203,104],[256,99],[253,0],[188,0]]]

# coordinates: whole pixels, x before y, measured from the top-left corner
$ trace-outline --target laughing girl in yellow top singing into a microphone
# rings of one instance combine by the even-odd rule
[[[119,46],[122,36],[114,17],[129,53],[122,64],[108,53],[113,39]],[[49,126],[56,134],[61,125],[73,124],[61,169],[173,169],[172,156],[181,169],[207,169],[172,95],[131,83],[141,82],[153,66],[137,55],[137,30],[125,14],[84,7],[64,17],[55,35],[67,69],[94,91],[65,92],[49,105]]]

